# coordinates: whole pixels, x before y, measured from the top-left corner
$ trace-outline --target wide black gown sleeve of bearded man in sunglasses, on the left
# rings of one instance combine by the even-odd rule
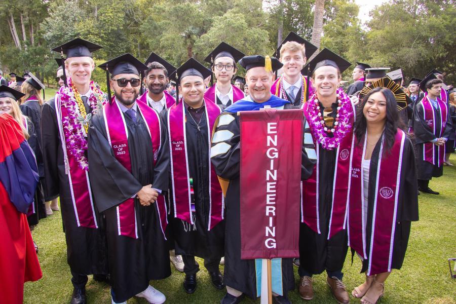
[[[101,113],[97,113],[91,120],[88,161],[90,183],[98,212],[123,203],[142,188],[141,183],[114,156]]]

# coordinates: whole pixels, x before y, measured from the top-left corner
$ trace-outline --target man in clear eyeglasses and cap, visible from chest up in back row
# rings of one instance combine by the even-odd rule
[[[244,57],[244,53],[224,42],[207,55],[204,61],[212,65],[211,69],[216,83],[207,89],[204,98],[216,104],[230,106],[245,97],[244,92],[231,84],[233,76],[238,71],[236,62],[242,57]]]

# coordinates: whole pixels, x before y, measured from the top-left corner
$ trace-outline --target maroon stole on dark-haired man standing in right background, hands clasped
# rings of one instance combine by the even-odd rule
[[[424,112],[424,119],[428,127],[432,130],[434,135],[437,138],[443,136],[443,132],[445,131],[446,126],[446,115],[447,115],[447,107],[446,102],[443,102],[440,98],[437,97],[437,105],[440,109],[440,134],[436,134],[435,130],[435,109],[434,106],[431,104],[429,100],[428,94],[425,94],[425,97],[421,100],[421,106],[423,107]],[[435,147],[437,147],[437,164],[435,163]],[[440,167],[443,164],[445,157],[445,145],[436,146],[432,142],[425,142],[423,144],[423,160],[431,163],[433,165],[437,165]]]

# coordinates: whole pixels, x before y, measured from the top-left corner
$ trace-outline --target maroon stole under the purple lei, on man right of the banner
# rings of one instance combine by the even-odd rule
[[[308,116],[308,103],[303,104],[303,110]],[[353,111],[354,108],[353,108]],[[351,124],[354,124],[355,116],[352,116]],[[311,127],[312,129],[312,127]],[[306,223],[314,232],[320,234],[319,212],[319,145],[316,143],[312,132],[317,163],[309,179],[302,181],[301,191],[301,222]],[[348,189],[351,172],[352,151],[355,142],[353,132],[341,139],[336,151],[336,163],[334,171],[331,215],[329,219],[328,240],[346,226]]]

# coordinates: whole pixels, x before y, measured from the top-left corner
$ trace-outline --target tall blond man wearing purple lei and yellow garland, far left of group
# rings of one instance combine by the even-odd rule
[[[100,46],[73,39],[53,51],[66,55],[65,86],[42,110],[45,197],[60,197],[67,262],[71,271],[71,304],[85,304],[88,275],[108,282],[106,242],[95,214],[87,166],[88,121],[104,93],[90,80],[95,63],[92,52]],[[62,62],[63,60],[60,60]],[[63,69],[62,69],[63,71]]]

